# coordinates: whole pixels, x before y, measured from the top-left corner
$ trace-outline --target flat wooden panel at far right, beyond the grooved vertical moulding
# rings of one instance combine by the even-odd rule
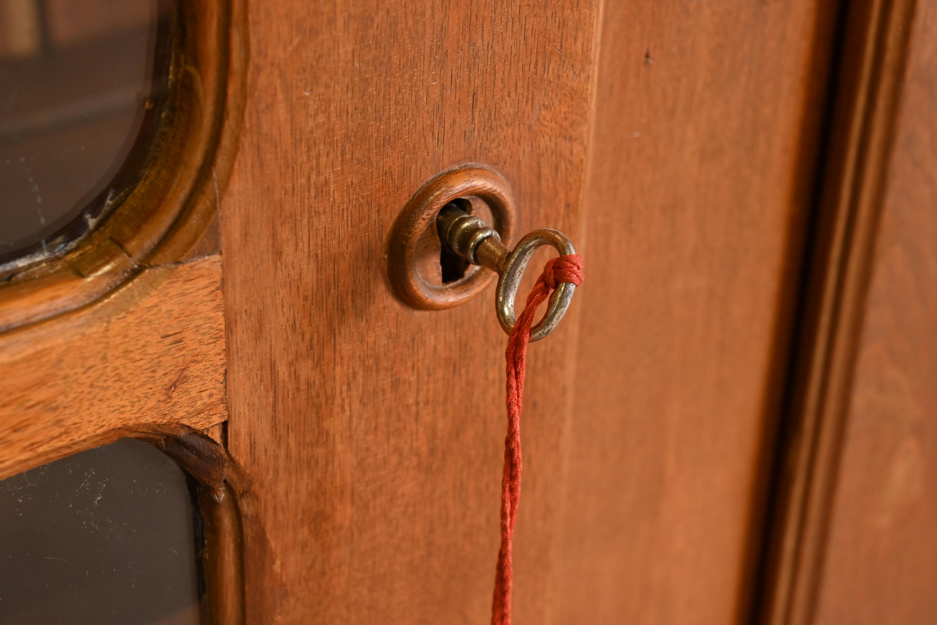
[[[937,3],[910,31],[832,499],[818,624],[937,614]]]

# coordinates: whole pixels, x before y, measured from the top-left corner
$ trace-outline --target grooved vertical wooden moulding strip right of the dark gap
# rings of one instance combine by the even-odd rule
[[[754,622],[808,625],[865,313],[915,0],[852,4]]]

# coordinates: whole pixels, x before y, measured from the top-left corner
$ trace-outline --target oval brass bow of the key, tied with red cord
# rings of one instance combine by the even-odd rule
[[[514,300],[517,298],[521,278],[524,276],[533,253],[542,246],[554,246],[560,255],[576,253],[573,244],[565,234],[548,228],[532,231],[518,242],[500,271],[495,299],[498,322],[504,332],[509,335],[517,322],[514,316]],[[530,330],[531,341],[539,341],[556,329],[573,302],[575,290],[576,286],[571,282],[562,282],[558,285],[557,290],[550,295],[550,302],[543,319]]]

